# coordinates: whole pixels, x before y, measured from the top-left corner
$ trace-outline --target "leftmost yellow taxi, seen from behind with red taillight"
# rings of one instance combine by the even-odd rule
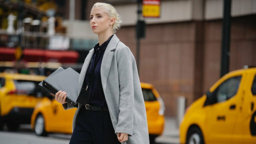
[[[30,124],[36,104],[46,96],[37,84],[46,77],[0,73],[0,130],[4,124],[16,131],[20,124]]]

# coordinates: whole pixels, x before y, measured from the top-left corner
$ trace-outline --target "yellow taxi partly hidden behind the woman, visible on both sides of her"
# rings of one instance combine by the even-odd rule
[[[164,129],[165,106],[157,90],[151,84],[141,83],[147,112],[148,129],[151,141],[161,135]],[[36,135],[47,133],[72,133],[72,120],[76,108],[64,110],[57,101],[44,98],[39,102],[31,117],[31,127]]]

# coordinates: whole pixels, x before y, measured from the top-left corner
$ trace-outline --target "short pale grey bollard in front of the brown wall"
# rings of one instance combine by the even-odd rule
[[[176,120],[177,128],[179,128],[180,123],[185,114],[185,101],[186,101],[186,98],[183,96],[180,96],[177,98],[177,120]]]

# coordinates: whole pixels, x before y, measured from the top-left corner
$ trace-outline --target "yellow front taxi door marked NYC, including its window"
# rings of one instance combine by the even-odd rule
[[[209,144],[231,144],[241,105],[242,83],[245,74],[229,74],[213,90],[214,104],[207,107],[205,121]]]

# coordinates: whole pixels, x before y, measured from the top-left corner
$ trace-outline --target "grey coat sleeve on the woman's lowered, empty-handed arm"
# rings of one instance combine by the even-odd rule
[[[133,133],[134,88],[132,53],[128,47],[123,47],[117,53],[117,67],[119,77],[119,116],[115,133]]]

